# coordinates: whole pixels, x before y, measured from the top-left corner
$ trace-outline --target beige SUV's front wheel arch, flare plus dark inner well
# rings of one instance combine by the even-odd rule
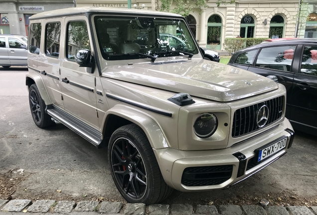
[[[117,105],[109,109],[103,120],[104,139],[109,142],[112,133],[119,127],[134,123],[145,132],[152,148],[169,147],[166,138],[158,123],[148,114],[140,112],[137,109],[129,108],[123,105]]]

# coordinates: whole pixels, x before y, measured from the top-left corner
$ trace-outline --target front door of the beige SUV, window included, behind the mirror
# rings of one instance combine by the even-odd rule
[[[74,56],[79,49],[92,50],[87,19],[85,16],[77,20],[65,19],[66,47],[61,62],[61,85],[64,107],[71,115],[84,121],[95,129],[99,129],[96,102],[96,73],[92,68],[79,67]]]

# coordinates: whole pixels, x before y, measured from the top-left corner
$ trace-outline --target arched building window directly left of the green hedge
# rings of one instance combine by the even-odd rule
[[[208,18],[207,48],[221,49],[221,17],[213,14]]]

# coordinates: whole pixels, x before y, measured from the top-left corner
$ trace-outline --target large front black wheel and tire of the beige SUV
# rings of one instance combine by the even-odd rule
[[[112,178],[129,203],[156,204],[172,192],[163,180],[159,164],[144,131],[136,124],[118,128],[108,145]]]

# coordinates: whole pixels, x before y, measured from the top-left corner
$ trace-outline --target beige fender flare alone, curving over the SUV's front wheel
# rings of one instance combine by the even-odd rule
[[[150,115],[131,107],[116,105],[106,112],[102,127],[105,127],[111,114],[125,118],[140,126],[146,133],[152,148],[160,149],[169,147],[163,131]]]

